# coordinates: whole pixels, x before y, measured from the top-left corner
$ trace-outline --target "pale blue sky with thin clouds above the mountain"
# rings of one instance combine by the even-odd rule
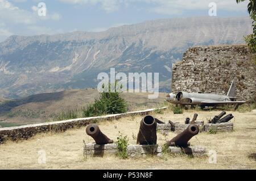
[[[40,2],[46,16],[38,14]],[[10,35],[104,31],[145,20],[208,16],[211,2],[217,17],[247,16],[248,1],[237,5],[236,0],[0,0],[0,41]]]

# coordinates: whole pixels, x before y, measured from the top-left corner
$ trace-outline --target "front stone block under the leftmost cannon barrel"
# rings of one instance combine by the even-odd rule
[[[117,153],[117,145],[115,144],[97,145],[95,143],[89,143],[84,145],[84,155],[102,157],[105,154],[115,153]]]

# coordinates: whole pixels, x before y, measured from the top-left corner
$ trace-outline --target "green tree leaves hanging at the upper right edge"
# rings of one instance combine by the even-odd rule
[[[236,0],[237,3],[246,1],[246,0]],[[247,5],[247,11],[253,20],[253,34],[245,36],[245,41],[251,49],[251,52],[256,53],[256,0],[249,0]]]

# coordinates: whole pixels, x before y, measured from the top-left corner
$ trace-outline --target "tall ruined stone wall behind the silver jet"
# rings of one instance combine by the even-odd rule
[[[226,95],[235,78],[237,100],[255,99],[255,56],[246,45],[189,48],[183,61],[172,66],[172,92]]]

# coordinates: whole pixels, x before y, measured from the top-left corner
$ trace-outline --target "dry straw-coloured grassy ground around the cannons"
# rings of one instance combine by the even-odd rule
[[[221,111],[197,111],[197,120],[204,120]],[[163,121],[180,121],[193,117],[195,110],[188,110],[180,115],[171,111],[153,114]],[[256,111],[232,113],[234,131],[230,133],[199,133],[193,137],[191,145],[204,146],[207,151],[217,151],[217,163],[209,163],[208,157],[191,158],[188,155],[168,155],[162,158],[120,159],[113,156],[87,157],[82,154],[83,140],[93,142],[85,133],[85,127],[68,130],[64,133],[45,133],[26,141],[0,145],[0,169],[256,169]],[[135,144],[139,122],[142,116],[125,117],[119,120],[99,123],[101,131],[113,140],[118,132],[129,137],[129,144]],[[134,134],[134,136],[133,136]],[[158,144],[163,145],[176,134],[170,132],[164,136],[158,132]],[[39,163],[42,153],[46,153],[46,163]]]

